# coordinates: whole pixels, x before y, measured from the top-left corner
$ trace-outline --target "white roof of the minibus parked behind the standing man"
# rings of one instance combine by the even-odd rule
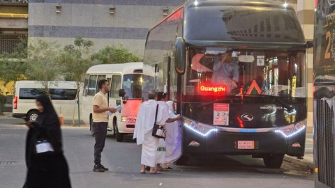
[[[87,70],[87,74],[131,74],[134,70],[142,70],[142,62],[131,62],[131,63],[114,63],[114,64],[101,64],[94,65]]]

